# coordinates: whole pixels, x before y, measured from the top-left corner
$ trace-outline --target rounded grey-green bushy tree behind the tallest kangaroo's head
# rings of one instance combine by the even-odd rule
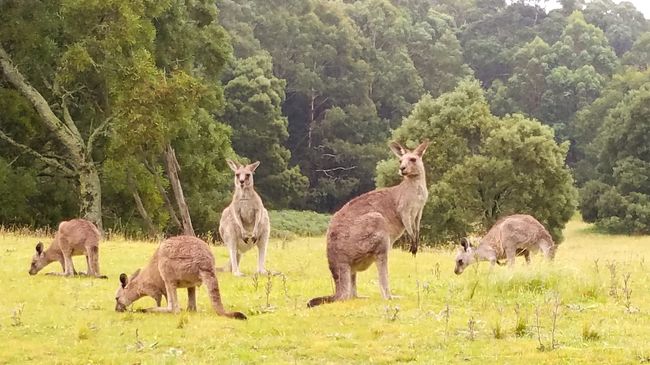
[[[475,81],[438,99],[424,97],[395,130],[409,145],[432,141],[425,166],[430,182],[422,232],[434,243],[488,229],[499,217],[528,213],[556,242],[575,209],[575,189],[550,128],[521,115],[490,113]],[[393,161],[377,167],[379,185],[392,183]]]

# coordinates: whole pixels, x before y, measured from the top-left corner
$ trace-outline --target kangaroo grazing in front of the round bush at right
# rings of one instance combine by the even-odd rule
[[[498,220],[480,240],[477,248],[470,245],[467,238],[460,240],[461,248],[456,256],[454,272],[460,275],[465,268],[477,261],[490,261],[507,258],[508,266],[515,263],[515,256],[524,256],[530,263],[531,252],[542,250],[544,256],[553,260],[555,243],[546,228],[530,215],[515,214]]]

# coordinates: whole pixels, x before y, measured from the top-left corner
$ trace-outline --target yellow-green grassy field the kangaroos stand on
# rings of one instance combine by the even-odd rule
[[[573,221],[553,264],[518,259],[453,273],[455,252],[394,250],[393,291],[380,299],[374,267],[358,276],[369,296],[314,309],[332,283],[321,237],[272,241],[273,277],[221,274],[225,304],[249,320],[216,316],[202,288],[198,313],[116,313],[121,272],[152,243],[103,242],[109,280],[27,274],[39,237],[0,235],[1,364],[463,363],[639,364],[650,362],[650,237],[604,236]],[[41,238],[43,239],[43,238]],[[227,254],[214,247],[217,264]],[[255,268],[256,252],[243,258]],[[76,268],[86,270],[83,257]],[[44,272],[59,271],[58,264]],[[181,304],[187,297],[179,291]],[[134,308],[152,306],[144,298]]]

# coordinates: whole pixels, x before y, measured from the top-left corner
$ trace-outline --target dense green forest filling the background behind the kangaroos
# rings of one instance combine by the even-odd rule
[[[225,159],[333,212],[432,141],[429,242],[576,207],[650,233],[650,22],[629,2],[0,3],[0,224],[217,230]],[[273,222],[272,222],[273,224]]]

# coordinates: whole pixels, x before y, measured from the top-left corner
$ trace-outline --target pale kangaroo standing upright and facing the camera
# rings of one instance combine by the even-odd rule
[[[235,193],[230,205],[221,213],[219,221],[219,234],[230,254],[230,262],[225,270],[232,271],[236,276],[242,276],[239,271],[241,255],[253,246],[257,246],[257,272],[264,274],[266,273],[264,268],[266,246],[271,225],[269,213],[253,186],[253,173],[260,162],[246,166],[232,160],[226,162],[235,173]]]

